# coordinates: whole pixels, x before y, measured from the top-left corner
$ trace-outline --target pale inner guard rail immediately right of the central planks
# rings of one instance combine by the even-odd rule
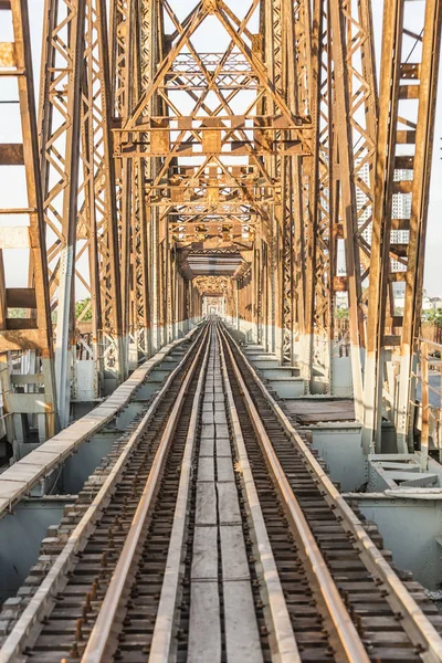
[[[232,387],[229,380],[221,336],[218,329],[217,334],[219,338],[219,348],[221,355],[222,380],[224,385],[224,393],[229,404],[233,442],[236,448],[236,453],[240,461],[240,471],[245,488],[248,511],[252,520],[259,556],[259,564],[262,567],[261,581],[263,583],[263,588],[269,601],[269,614],[272,624],[270,631],[274,639],[273,646],[276,650],[274,653],[276,654],[277,661],[280,663],[301,663],[301,656],[297,649],[295,634],[293,632],[287,604],[284,598],[283,589],[281,587],[280,575],[277,572],[272,546],[269,540],[267,529],[264,523],[264,516],[261,509],[260,498],[257,496],[255,482],[250,466],[249,455],[245,449],[244,438],[241,431],[238,410],[233,399]],[[159,661],[155,663],[159,663]]]

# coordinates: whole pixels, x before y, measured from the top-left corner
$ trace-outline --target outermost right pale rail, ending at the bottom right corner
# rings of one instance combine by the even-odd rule
[[[424,615],[388,561],[386,561],[382,554],[364,529],[359,518],[355,515],[346,499],[335,487],[329,476],[319,465],[308,446],[301,438],[299,433],[293,427],[290,419],[284,414],[281,407],[271,396],[234,338],[228,334],[224,328],[222,332],[225,336],[229,336],[229,339],[234,345],[236,351],[243,358],[254,382],[270,403],[278,421],[290,434],[295,446],[304,456],[307,465],[309,465],[311,472],[317,480],[319,491],[324,498],[341,517],[340,524],[343,528],[354,536],[354,547],[358,550],[361,561],[365,564],[370,573],[372,573],[372,576],[379,581],[379,589],[386,590],[386,600],[390,604],[394,614],[400,618],[403,630],[420,652],[422,661],[424,661],[424,663],[441,663],[442,639],[438,631],[431,624],[430,620]]]

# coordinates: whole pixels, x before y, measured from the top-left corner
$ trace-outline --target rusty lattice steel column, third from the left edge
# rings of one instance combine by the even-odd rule
[[[96,357],[103,388],[115,389],[125,377],[119,297],[118,228],[115,164],[110,135],[110,76],[105,0],[86,1],[82,134],[88,228],[93,326],[98,334]],[[94,255],[95,254],[95,255]]]

